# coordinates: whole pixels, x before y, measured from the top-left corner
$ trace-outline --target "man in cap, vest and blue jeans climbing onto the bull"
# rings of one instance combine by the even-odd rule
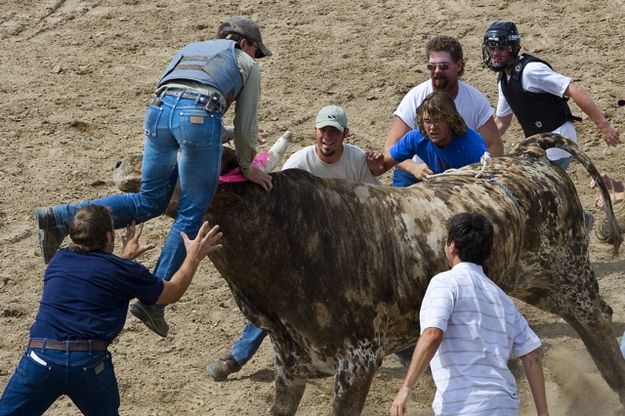
[[[99,204],[111,208],[115,228],[161,215],[176,179],[181,198],[176,219],[154,268],[170,280],[185,258],[181,232],[195,236],[217,189],[221,168],[223,114],[236,102],[234,144],[243,175],[266,191],[271,176],[251,166],[258,142],[260,69],[255,59],[271,56],[258,25],[245,16],[227,18],[217,39],[183,47],[169,62],[144,118],[141,189],[77,204],[38,208],[39,245],[48,263],[68,234],[77,210]],[[169,326],[163,305],[136,302],[131,313],[156,334]]]

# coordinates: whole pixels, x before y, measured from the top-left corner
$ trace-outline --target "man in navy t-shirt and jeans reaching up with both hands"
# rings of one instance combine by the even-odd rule
[[[44,276],[30,340],[0,398],[1,416],[41,415],[67,395],[85,415],[118,415],[119,390],[108,345],[121,332],[128,303],[178,301],[208,253],[221,247],[219,227],[204,223],[194,240],[182,232],[186,258],[171,280],[133,262],[153,245],[140,245],[142,227],[128,226],[121,257],[106,207],[88,205],[70,222],[72,245],[59,250]]]

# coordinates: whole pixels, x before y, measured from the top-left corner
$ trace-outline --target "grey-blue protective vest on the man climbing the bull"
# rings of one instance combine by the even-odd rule
[[[243,88],[234,45],[231,40],[215,39],[185,46],[169,62],[158,86],[174,80],[201,82],[219,90],[229,107]]]

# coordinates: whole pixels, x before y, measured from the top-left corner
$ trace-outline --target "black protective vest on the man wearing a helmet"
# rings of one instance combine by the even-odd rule
[[[530,62],[542,62],[551,68],[551,65],[541,59],[522,54],[510,79],[505,72],[499,74],[501,91],[519,120],[525,137],[553,131],[567,121],[581,120],[571,113],[566,103],[568,99],[549,93],[528,92],[523,89],[521,85],[523,70]]]

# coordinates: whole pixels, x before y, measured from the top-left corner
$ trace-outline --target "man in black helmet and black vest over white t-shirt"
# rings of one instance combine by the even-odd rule
[[[526,137],[553,132],[575,141],[573,121],[580,119],[573,116],[567,104],[572,98],[599,127],[608,146],[616,146],[618,131],[582,87],[539,58],[519,56],[520,49],[521,36],[513,22],[496,20],[486,29],[482,56],[486,66],[499,73],[495,123],[500,134],[506,132],[514,114]],[[547,157],[563,169],[571,163],[571,156],[560,149],[547,150]]]

